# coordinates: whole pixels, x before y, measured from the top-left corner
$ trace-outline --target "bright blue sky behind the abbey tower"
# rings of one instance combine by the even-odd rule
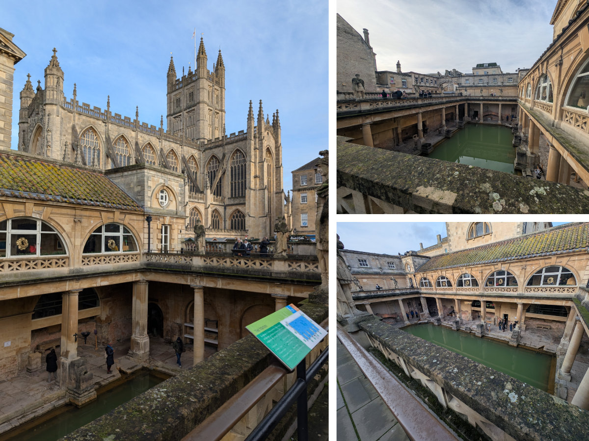
[[[203,33],[208,68],[219,48],[226,67],[226,133],[246,130],[254,115],[279,109],[284,189],[291,171],[327,148],[327,1],[8,2],[0,27],[15,34],[27,56],[15,65],[12,148],[27,73],[44,86],[44,69],[57,48],[64,93],[78,101],[155,126],[164,115],[170,52],[176,74],[194,69],[193,30]],[[197,41],[197,45],[198,45]]]

